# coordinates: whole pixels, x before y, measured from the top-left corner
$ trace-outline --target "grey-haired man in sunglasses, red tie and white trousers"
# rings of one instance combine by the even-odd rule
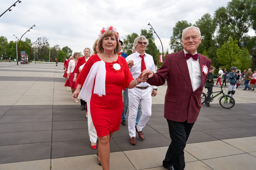
[[[128,89],[129,98],[129,117],[128,117],[128,130],[130,135],[130,144],[136,144],[136,131],[141,140],[144,140],[144,134],[142,133],[142,128],[145,127],[151,116],[151,105],[152,98],[157,94],[157,87],[153,86],[153,90],[150,84],[146,82],[137,83],[136,78],[140,75],[143,70],[151,70],[155,73],[155,64],[153,57],[145,53],[146,47],[148,45],[148,39],[145,36],[138,36],[134,39],[133,47],[136,50],[135,53],[126,57],[126,61],[134,61],[134,65],[130,68],[132,76],[135,80],[136,87],[133,89]],[[137,76],[137,77],[136,77]],[[152,93],[151,93],[152,90]],[[136,127],[136,117],[139,103],[141,105],[141,117]]]

